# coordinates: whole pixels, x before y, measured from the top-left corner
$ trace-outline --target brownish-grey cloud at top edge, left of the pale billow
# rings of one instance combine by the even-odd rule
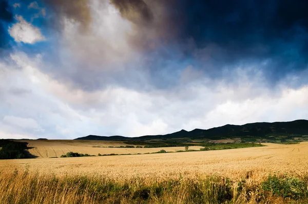
[[[71,20],[79,22],[81,30],[85,31],[89,28],[92,18],[88,0],[43,0],[43,2],[48,5],[48,8],[55,11],[55,18],[64,15]],[[59,23],[59,19],[57,20],[55,23]]]

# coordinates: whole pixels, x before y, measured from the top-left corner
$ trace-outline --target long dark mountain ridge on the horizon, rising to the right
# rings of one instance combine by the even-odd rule
[[[223,138],[268,138],[268,137],[295,137],[308,135],[308,120],[295,120],[291,122],[257,122],[244,125],[224,125],[210,129],[194,129],[167,135],[146,135],[141,137],[123,136],[96,136],[76,138],[76,140],[122,140],[122,141],[147,141],[147,140],[170,140],[170,139],[199,139],[217,140]]]

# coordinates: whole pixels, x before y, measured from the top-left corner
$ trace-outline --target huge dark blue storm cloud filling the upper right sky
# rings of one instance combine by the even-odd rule
[[[181,57],[195,59],[216,73],[226,65],[266,61],[263,71],[270,81],[307,68],[305,0],[112,3],[136,26],[137,34],[130,41],[136,47],[150,50],[152,41],[155,48],[158,42],[163,47],[176,47]],[[144,18],[136,21],[129,16]]]

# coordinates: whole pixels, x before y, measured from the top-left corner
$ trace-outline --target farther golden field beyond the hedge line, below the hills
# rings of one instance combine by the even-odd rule
[[[185,147],[163,147],[163,148],[106,148],[103,146],[126,146],[122,141],[93,141],[93,140],[15,140],[28,142],[30,154],[38,158],[60,157],[67,152],[77,152],[81,154],[144,154],[158,152],[161,149],[167,152],[184,151]],[[101,146],[101,147],[93,147]],[[136,145],[134,145],[136,146]],[[199,150],[202,146],[191,146],[190,150]]]

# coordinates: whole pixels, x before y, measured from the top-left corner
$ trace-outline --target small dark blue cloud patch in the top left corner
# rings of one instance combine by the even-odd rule
[[[8,24],[12,23],[14,20],[11,9],[12,8],[9,6],[8,1],[0,0],[0,54],[3,49],[10,48],[10,36],[7,32],[7,27]]]

